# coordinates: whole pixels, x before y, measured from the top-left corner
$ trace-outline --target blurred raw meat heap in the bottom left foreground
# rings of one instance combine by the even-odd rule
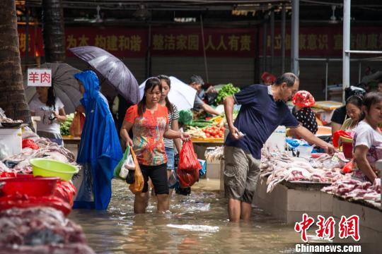
[[[81,226],[50,207],[0,212],[0,247],[0,253],[94,253]]]

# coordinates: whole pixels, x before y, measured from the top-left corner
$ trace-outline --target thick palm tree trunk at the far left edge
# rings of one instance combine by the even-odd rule
[[[2,0],[0,8],[0,107],[9,118],[31,123],[23,88],[15,0]]]

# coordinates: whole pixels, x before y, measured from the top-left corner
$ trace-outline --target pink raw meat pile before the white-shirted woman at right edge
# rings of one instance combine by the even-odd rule
[[[373,184],[356,179],[342,179],[324,187],[321,191],[337,195],[347,200],[373,200],[381,202],[381,179],[376,179]]]

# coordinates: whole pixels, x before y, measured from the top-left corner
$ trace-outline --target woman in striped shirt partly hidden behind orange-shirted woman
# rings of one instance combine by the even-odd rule
[[[179,131],[179,125],[178,125],[178,119],[179,119],[179,111],[178,108],[172,104],[168,100],[168,92],[170,92],[171,88],[171,81],[170,78],[166,75],[158,75],[158,78],[161,80],[162,84],[162,95],[161,100],[159,101],[159,104],[161,104],[164,107],[167,107],[168,109],[168,126],[173,131]],[[174,143],[175,148],[180,152],[182,149],[182,143],[180,142],[180,138],[176,138],[174,140],[170,140],[165,138],[164,144],[166,148],[166,155],[167,155],[167,176],[168,179],[173,174],[173,171],[175,170],[174,167]],[[170,186],[170,195],[173,191],[173,186]]]

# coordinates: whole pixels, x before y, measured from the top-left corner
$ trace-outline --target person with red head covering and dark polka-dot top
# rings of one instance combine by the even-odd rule
[[[315,100],[313,95],[308,91],[299,91],[294,95],[292,102],[294,104],[293,115],[297,121],[302,123],[303,127],[307,128],[311,133],[316,134],[318,124],[316,115],[311,107],[314,105]]]

